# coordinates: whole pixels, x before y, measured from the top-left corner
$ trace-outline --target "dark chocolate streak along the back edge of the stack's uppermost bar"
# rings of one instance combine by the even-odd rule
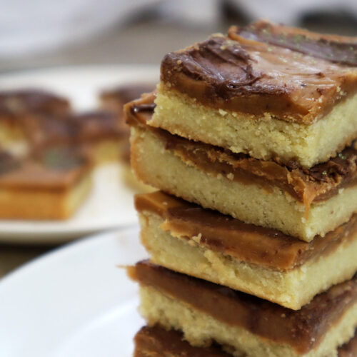
[[[313,34],[307,30],[275,25],[263,20],[246,27],[232,26],[228,33],[231,39],[241,36],[245,39],[291,49],[318,59],[357,66],[356,37]]]

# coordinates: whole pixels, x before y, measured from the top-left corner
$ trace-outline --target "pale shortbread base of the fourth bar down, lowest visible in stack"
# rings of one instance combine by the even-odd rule
[[[216,341],[236,357],[336,357],[338,346],[352,338],[357,326],[357,304],[354,304],[315,349],[301,354],[287,344],[273,343],[240,326],[218,321],[151,286],[141,287],[140,294],[140,311],[149,325],[159,323],[165,328],[181,330],[193,346]]]

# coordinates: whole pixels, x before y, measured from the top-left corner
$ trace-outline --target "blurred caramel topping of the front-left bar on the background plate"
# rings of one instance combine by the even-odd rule
[[[71,149],[47,149],[24,160],[0,155],[0,188],[66,190],[90,170],[88,159]]]

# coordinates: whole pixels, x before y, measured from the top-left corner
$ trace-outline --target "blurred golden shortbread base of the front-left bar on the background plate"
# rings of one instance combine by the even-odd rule
[[[0,218],[31,220],[69,218],[88,196],[91,181],[91,175],[87,174],[73,187],[65,190],[0,188]]]

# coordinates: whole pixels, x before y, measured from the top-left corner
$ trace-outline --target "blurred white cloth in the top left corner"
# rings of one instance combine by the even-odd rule
[[[0,56],[86,39],[158,0],[0,0]]]

